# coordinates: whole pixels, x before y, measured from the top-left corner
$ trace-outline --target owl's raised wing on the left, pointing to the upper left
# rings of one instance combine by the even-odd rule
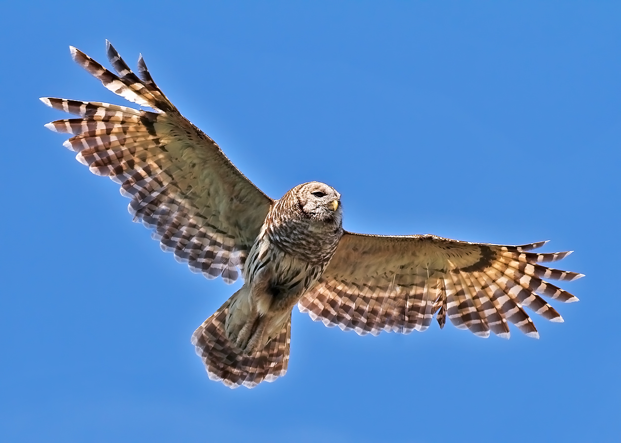
[[[207,278],[237,279],[273,200],[252,184],[209,136],[179,114],[138,58],[138,78],[106,40],[117,74],[70,47],[79,65],[125,99],[155,112],[99,102],[42,98],[79,115],[45,125],[75,134],[65,146],[91,172],[121,184],[134,221],[161,248]]]

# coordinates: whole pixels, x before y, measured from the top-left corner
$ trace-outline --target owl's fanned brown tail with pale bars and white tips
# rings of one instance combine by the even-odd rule
[[[240,294],[242,290],[229,298],[192,334],[192,344],[196,346],[196,354],[205,364],[209,378],[222,382],[229,388],[237,388],[240,385],[253,388],[263,380],[273,382],[286,374],[289,363],[291,313],[281,331],[268,341],[263,349],[253,354],[244,354],[227,338],[229,309],[242,295]]]

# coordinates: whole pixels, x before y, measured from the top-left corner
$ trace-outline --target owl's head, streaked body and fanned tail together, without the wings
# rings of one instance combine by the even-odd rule
[[[339,200],[332,187],[310,182],[271,205],[248,252],[243,286],[192,336],[212,380],[252,387],[286,372],[291,310],[343,235]]]

